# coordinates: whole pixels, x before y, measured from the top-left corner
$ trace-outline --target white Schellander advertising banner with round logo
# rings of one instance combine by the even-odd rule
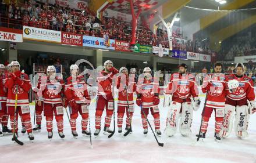
[[[23,26],[23,38],[35,41],[61,43],[61,31]]]

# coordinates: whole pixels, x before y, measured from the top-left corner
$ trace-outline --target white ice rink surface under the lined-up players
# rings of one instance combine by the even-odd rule
[[[177,131],[173,137],[167,137],[163,133],[167,108],[160,107],[162,137],[159,142],[164,143],[159,147],[152,132],[143,135],[140,108],[136,107],[132,122],[133,133],[124,137],[116,131],[110,139],[103,135],[95,138],[92,136],[93,148],[90,148],[90,139],[81,135],[81,117],[77,119],[78,139],[71,135],[67,115],[64,115],[65,139],[61,140],[54,122],[54,137],[52,141],[47,138],[45,118],[42,120],[40,133],[35,132],[35,140],[31,143],[27,134],[19,133],[19,139],[24,146],[19,146],[11,141],[11,136],[0,137],[0,162],[256,162],[256,115],[251,115],[248,127],[249,137],[239,140],[232,132],[227,139],[221,143],[214,140],[214,115],[209,121],[207,139],[205,142],[195,143],[195,135],[198,133],[201,122],[201,111],[204,97],[201,97],[200,110],[194,113],[192,132],[190,137],[183,137]],[[159,106],[162,106],[163,99]],[[31,119],[34,117],[34,106],[31,108]],[[102,115],[102,126],[104,125],[105,113]],[[116,116],[117,117],[117,116]],[[95,103],[90,106],[91,131],[95,131]],[[152,126],[151,114],[148,116]],[[124,118],[125,123],[125,118]],[[113,128],[113,123],[111,123]],[[21,123],[19,122],[19,129]],[[116,126],[117,129],[117,126]],[[125,124],[123,125],[123,131]],[[103,131],[103,128],[102,128]],[[19,130],[20,132],[20,130]]]

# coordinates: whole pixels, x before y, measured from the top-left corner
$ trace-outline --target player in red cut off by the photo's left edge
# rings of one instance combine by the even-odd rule
[[[7,127],[9,119],[6,108],[7,89],[5,88],[5,79],[7,78],[7,75],[8,74],[5,73],[5,66],[0,64],[0,124],[2,124],[2,132],[0,131],[0,136],[12,134],[12,131]]]

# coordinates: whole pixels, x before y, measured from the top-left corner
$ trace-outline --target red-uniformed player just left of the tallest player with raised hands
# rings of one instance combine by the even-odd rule
[[[67,78],[65,85],[65,95],[69,104],[70,110],[70,126],[72,135],[78,136],[76,132],[76,119],[78,112],[80,113],[82,134],[90,136],[91,133],[87,131],[90,96],[88,94],[86,81],[83,75],[79,75],[79,67],[76,64],[70,66],[70,77]]]

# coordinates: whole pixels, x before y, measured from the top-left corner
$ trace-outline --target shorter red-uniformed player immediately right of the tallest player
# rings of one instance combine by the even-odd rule
[[[119,89],[118,93],[118,132],[122,133],[123,116],[126,112],[126,131],[130,128],[131,119],[134,113],[133,92],[136,91],[136,82],[134,75],[128,75],[126,67],[121,67],[119,73],[122,74],[118,77],[116,88]],[[129,118],[130,117],[130,118]]]

